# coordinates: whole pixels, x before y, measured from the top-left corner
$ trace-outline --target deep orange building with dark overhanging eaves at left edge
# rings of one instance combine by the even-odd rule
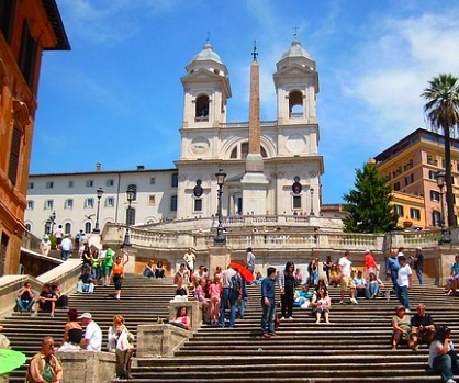
[[[0,277],[19,271],[44,50],[69,50],[55,0],[0,0]]]

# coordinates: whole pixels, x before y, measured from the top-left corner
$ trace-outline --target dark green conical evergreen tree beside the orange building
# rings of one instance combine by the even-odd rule
[[[355,190],[343,198],[349,216],[344,219],[345,230],[351,233],[387,233],[396,228],[398,215],[392,202],[391,188],[377,170],[374,161],[356,169]]]

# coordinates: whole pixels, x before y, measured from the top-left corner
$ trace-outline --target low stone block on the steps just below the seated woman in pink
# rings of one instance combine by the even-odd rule
[[[191,337],[191,331],[172,325],[138,325],[136,357],[173,357],[173,351]]]

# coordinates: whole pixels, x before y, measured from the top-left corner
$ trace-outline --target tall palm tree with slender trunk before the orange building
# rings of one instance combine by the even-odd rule
[[[429,87],[422,93],[422,97],[428,100],[424,105],[424,111],[432,127],[436,131],[443,129],[445,136],[446,206],[448,226],[451,227],[457,225],[457,221],[452,201],[450,135],[459,124],[459,79],[441,74],[428,83]]]

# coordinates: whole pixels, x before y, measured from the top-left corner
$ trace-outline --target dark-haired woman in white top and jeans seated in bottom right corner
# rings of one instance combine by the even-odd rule
[[[451,341],[451,330],[446,326],[436,326],[428,349],[428,365],[440,373],[445,383],[456,383],[454,374],[458,372],[457,356]]]

